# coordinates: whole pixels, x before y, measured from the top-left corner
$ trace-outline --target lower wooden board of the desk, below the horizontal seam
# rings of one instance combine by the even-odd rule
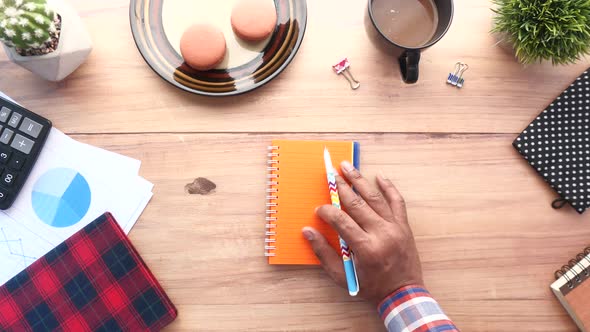
[[[271,139],[358,139],[363,172],[407,199],[426,283],[464,331],[573,331],[549,290],[587,244],[572,209],[513,150],[512,135],[75,135],[143,160],[154,198],[131,232],[179,306],[171,330],[381,331],[375,308],[315,267],[269,266],[263,253]],[[204,177],[207,196],[184,185]],[[346,316],[348,315],[348,317]]]

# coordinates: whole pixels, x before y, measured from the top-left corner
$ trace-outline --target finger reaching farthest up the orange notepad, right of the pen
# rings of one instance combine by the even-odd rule
[[[356,192],[368,203],[368,205],[381,217],[390,220],[392,217],[391,207],[383,197],[381,191],[364,178],[361,173],[348,161],[341,165],[342,172],[352,183]],[[356,218],[355,218],[356,219]]]

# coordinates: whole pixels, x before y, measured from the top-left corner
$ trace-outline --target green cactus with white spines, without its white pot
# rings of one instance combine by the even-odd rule
[[[55,32],[54,19],[46,0],[0,0],[0,41],[9,47],[39,48]]]

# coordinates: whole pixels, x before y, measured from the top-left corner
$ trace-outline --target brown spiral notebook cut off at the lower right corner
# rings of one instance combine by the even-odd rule
[[[551,290],[581,331],[590,331],[590,247],[555,271]]]

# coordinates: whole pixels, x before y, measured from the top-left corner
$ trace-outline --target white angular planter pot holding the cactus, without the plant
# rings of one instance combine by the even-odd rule
[[[38,56],[21,56],[4,46],[8,58],[48,81],[61,81],[76,70],[92,51],[92,40],[78,13],[63,0],[48,0],[61,16],[57,50]]]

